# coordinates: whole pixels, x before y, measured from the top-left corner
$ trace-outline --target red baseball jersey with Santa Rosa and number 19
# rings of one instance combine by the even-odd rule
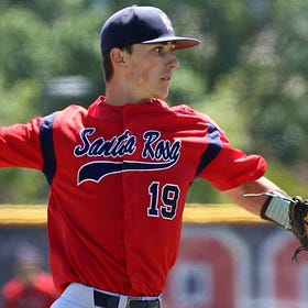
[[[258,155],[230,145],[208,117],[153,99],[99,97],[0,129],[0,166],[43,170],[51,185],[54,282],[156,296],[175,264],[185,196],[196,177],[220,190],[260,178]]]

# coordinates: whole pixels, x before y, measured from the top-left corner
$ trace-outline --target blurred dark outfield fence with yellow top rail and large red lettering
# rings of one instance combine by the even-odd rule
[[[22,242],[38,246],[47,266],[45,223],[44,206],[0,206],[0,287],[12,275],[13,251]],[[297,246],[289,232],[241,208],[188,205],[163,307],[308,307],[306,256],[292,261]]]

